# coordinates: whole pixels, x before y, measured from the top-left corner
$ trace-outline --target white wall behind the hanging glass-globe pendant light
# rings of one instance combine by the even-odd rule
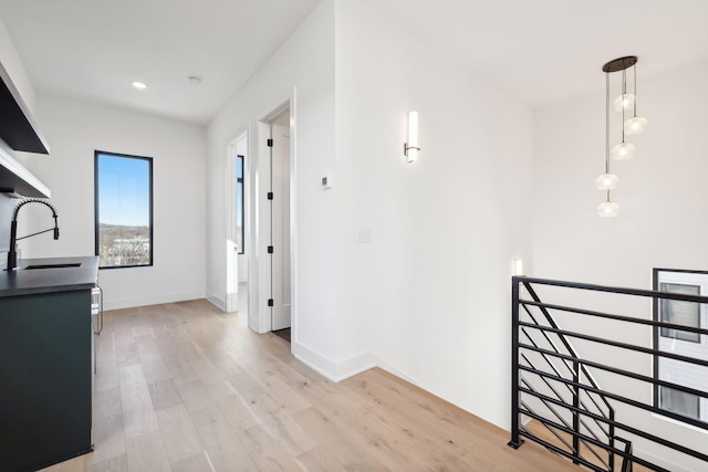
[[[639,57],[650,61],[650,57]],[[639,69],[641,71],[642,69]],[[708,269],[708,63],[637,77],[645,134],[632,137],[637,151],[629,161],[612,162],[620,177],[613,191],[620,216],[597,217],[603,193],[595,178],[604,171],[604,76],[595,93],[539,109],[534,116],[535,175],[533,220],[534,276],[650,289],[652,268]],[[683,94],[690,99],[681,99]],[[614,129],[615,137],[620,132]],[[649,317],[647,303],[614,303],[620,313]],[[650,344],[647,329],[623,340]],[[628,366],[650,375],[648,363]],[[642,390],[650,401],[649,391]],[[644,416],[646,431],[697,450],[705,433]],[[702,465],[705,468],[705,464]],[[698,470],[699,465],[686,465]],[[676,469],[676,465],[670,468]]]

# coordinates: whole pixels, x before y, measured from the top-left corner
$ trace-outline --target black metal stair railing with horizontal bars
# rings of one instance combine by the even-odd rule
[[[650,316],[626,316],[543,303],[534,286],[582,291],[583,295],[601,292],[627,297],[645,297],[652,298],[654,303],[657,300],[708,303],[708,297],[697,295],[514,276],[512,279],[511,333],[512,421],[509,445],[519,448],[523,442],[522,438],[529,439],[566,457],[576,464],[598,472],[615,470],[631,472],[633,464],[655,471],[666,471],[667,469],[637,455],[633,442],[644,441],[697,461],[704,461],[708,466],[708,455],[705,452],[664,438],[662,431],[647,431],[642,424],[633,424],[633,421],[636,420],[638,411],[644,415],[667,417],[704,430],[708,430],[708,423],[660,409],[655,403],[647,403],[643,398],[633,398],[621,390],[604,389],[595,376],[602,373],[604,378],[613,380],[618,378],[643,382],[650,385],[655,392],[658,387],[667,387],[699,398],[708,398],[708,392],[628,370],[618,365],[621,363],[608,365],[593,360],[590,356],[581,356],[571,340],[582,343],[584,348],[592,352],[601,348],[615,349],[618,353],[632,353],[633,356],[650,356],[653,360],[660,357],[702,367],[708,367],[708,360],[659,350],[657,346],[639,346],[610,337],[563,329],[553,314],[584,317],[594,322],[620,323],[644,329],[646,327],[670,328],[698,333],[700,336],[708,336],[708,329],[658,322]],[[522,291],[529,298],[521,296]],[[614,384],[614,381],[610,382],[613,386]],[[617,418],[617,408],[623,411],[623,418]],[[629,411],[632,415],[625,415]],[[546,436],[549,439],[543,439],[543,434],[522,424],[524,417],[539,423],[550,432],[551,437]],[[622,437],[618,437],[616,431],[621,431]],[[623,443],[624,447],[618,448],[617,443]]]

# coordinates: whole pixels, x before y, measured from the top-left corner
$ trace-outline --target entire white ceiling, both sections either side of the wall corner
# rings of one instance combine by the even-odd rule
[[[639,77],[708,60],[708,0],[357,1],[531,107],[602,88],[623,55]],[[206,124],[317,2],[0,0],[0,18],[39,92]]]

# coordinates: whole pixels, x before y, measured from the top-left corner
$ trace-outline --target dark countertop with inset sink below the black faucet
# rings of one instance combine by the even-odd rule
[[[98,279],[98,256],[23,259],[28,265],[81,263],[77,268],[21,269],[0,271],[0,297],[32,295],[51,292],[69,292],[93,289]]]

